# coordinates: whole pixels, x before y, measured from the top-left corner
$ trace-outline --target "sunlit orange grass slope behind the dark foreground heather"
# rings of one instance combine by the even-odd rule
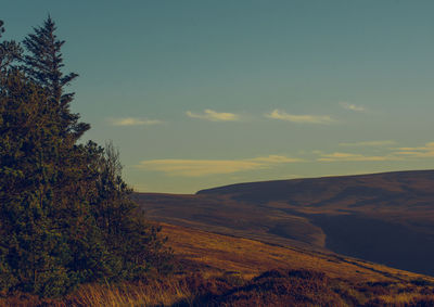
[[[163,225],[177,255],[208,270],[238,271],[245,278],[273,268],[311,269],[350,281],[392,281],[427,278],[417,273],[331,254],[288,248],[248,239]],[[434,281],[433,278],[427,278]]]

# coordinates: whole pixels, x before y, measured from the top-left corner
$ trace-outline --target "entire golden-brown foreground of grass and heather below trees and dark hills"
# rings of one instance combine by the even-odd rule
[[[60,300],[16,294],[0,298],[0,306],[434,306],[432,278],[170,225],[163,229],[183,265],[170,278],[82,285]]]

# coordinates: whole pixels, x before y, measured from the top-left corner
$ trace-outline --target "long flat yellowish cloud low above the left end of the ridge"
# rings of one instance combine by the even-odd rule
[[[264,169],[279,164],[296,162],[303,162],[303,159],[269,155],[246,159],[151,159],[142,161],[137,167],[162,171],[169,176],[201,177]]]

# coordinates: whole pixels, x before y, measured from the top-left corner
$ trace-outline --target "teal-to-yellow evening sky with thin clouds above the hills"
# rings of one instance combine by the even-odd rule
[[[434,1],[2,0],[50,14],[82,142],[140,192],[434,165]]]

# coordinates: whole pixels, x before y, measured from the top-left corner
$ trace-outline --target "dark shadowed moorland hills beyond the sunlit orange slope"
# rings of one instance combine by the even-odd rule
[[[133,197],[155,220],[434,276],[433,188],[434,171],[424,170]]]

